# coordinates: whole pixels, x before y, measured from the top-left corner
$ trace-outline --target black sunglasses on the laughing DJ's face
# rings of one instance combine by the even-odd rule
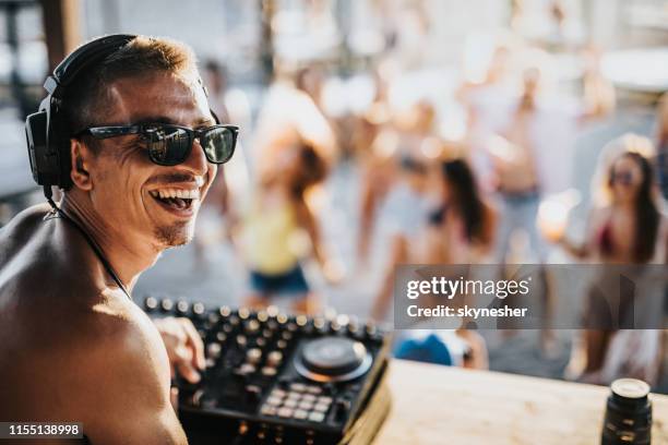
[[[212,164],[225,164],[235,154],[239,128],[236,125],[212,125],[201,130],[169,123],[138,125],[91,127],[80,135],[98,140],[139,134],[148,148],[148,157],[158,166],[176,166],[188,159],[194,140],[200,141],[206,159]]]

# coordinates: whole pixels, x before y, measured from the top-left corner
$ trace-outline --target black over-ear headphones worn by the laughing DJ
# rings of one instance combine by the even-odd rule
[[[51,187],[68,189],[70,178],[70,131],[64,113],[63,96],[76,76],[87,68],[118,51],[136,36],[115,34],[96,38],[68,56],[44,83],[48,96],[39,104],[39,111],[25,119],[25,135],[33,179],[44,185],[47,197]]]

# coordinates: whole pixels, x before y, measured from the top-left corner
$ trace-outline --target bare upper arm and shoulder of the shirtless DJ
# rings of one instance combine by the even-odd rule
[[[83,371],[74,404],[95,444],[186,444],[169,401],[169,362],[147,317],[114,317],[107,335],[80,357]]]

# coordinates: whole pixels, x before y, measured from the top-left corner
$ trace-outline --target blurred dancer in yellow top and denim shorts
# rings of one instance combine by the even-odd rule
[[[242,220],[242,245],[253,294],[248,304],[263,306],[277,296],[294,299],[293,309],[313,313],[301,260],[309,251],[327,270],[320,228],[307,194],[327,175],[327,164],[301,139],[278,147],[260,172],[259,190]]]

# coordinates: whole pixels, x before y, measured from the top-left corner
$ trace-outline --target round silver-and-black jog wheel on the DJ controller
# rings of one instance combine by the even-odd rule
[[[315,382],[346,382],[371,368],[371,354],[359,341],[343,337],[310,340],[295,357],[297,372]]]

